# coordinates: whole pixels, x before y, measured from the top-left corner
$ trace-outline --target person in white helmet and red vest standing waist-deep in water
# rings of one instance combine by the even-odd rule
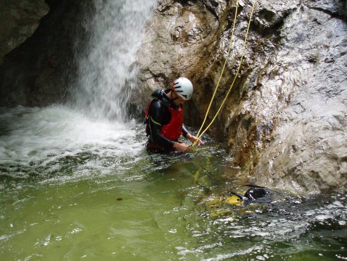
[[[187,78],[178,78],[170,89],[155,90],[151,95],[145,115],[146,135],[149,140],[146,150],[149,153],[179,151],[189,152],[189,145],[179,142],[181,135],[196,145],[201,145],[194,135],[191,135],[183,124],[183,104],[191,99],[193,85]]]

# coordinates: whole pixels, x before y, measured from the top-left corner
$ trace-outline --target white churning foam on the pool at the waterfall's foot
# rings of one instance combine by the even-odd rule
[[[80,152],[103,157],[143,149],[136,123],[92,120],[68,107],[18,107],[0,115],[0,164],[46,164]]]

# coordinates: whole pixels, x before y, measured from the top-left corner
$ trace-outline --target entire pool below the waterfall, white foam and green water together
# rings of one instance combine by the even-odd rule
[[[64,107],[0,120],[0,260],[347,259],[346,191],[273,188],[270,202],[212,207],[246,180],[207,137],[149,155],[136,121]]]

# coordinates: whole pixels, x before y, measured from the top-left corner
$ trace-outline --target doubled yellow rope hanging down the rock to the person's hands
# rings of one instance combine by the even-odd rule
[[[220,113],[220,111],[221,111],[223,105],[225,104],[225,102],[226,102],[226,100],[227,100],[227,97],[229,96],[229,93],[230,93],[230,91],[232,90],[232,87],[234,87],[235,80],[236,80],[236,78],[237,78],[237,75],[239,75],[239,71],[240,71],[240,69],[241,69],[242,61],[243,61],[243,59],[244,59],[244,53],[245,53],[245,50],[246,50],[246,43],[247,43],[247,37],[248,37],[248,31],[249,31],[249,28],[250,28],[250,25],[251,25],[251,20],[252,20],[252,17],[253,17],[253,11],[254,11],[254,8],[255,8],[255,3],[256,3],[256,0],[253,1],[252,10],[251,10],[251,16],[250,16],[249,21],[248,21],[248,27],[247,27],[246,36],[245,36],[245,39],[244,39],[244,47],[242,48],[241,59],[240,59],[239,67],[237,68],[236,74],[235,74],[235,76],[234,76],[234,80],[232,81],[232,85],[230,85],[229,90],[228,90],[228,92],[227,92],[227,95],[225,95],[225,98],[223,99],[222,104],[220,104],[220,107],[219,107],[219,109],[217,110],[217,112],[216,112],[215,116],[213,117],[212,121],[210,122],[210,124],[208,124],[208,126],[205,128],[205,130],[203,130],[203,132],[200,133],[201,129],[203,128],[203,124],[205,123],[205,120],[206,120],[208,111],[210,110],[210,106],[208,107],[208,111],[206,111],[205,120],[203,121],[203,124],[201,125],[201,128],[200,128],[200,130],[199,130],[199,132],[198,132],[198,135],[196,136],[198,139],[200,139],[201,136],[202,136],[204,133],[206,133],[206,130],[208,130],[208,128],[210,128],[210,126],[212,125],[212,123],[215,121],[215,119],[217,118],[217,115]],[[233,28],[233,30],[234,30],[234,28]],[[230,41],[230,42],[231,42],[231,41]],[[226,62],[227,62],[227,60],[226,60]],[[224,67],[223,67],[223,70],[224,70]],[[222,76],[222,74],[221,74],[221,76]],[[221,77],[221,76],[220,76],[220,77]],[[220,82],[220,80],[218,80],[218,83],[219,83],[219,82]],[[214,95],[215,95],[215,93],[213,94],[213,96],[214,96]],[[212,103],[212,100],[211,100],[210,104],[211,104],[211,103]],[[198,140],[196,140],[196,141],[194,142],[194,144],[192,145],[192,147],[194,147],[194,146],[196,145],[196,142],[198,142]]]

